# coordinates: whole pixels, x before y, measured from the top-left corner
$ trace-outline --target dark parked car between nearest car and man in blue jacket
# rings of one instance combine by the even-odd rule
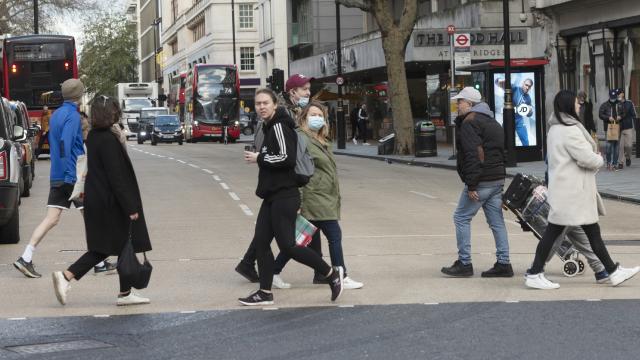
[[[20,125],[26,131],[26,136],[20,141],[22,144],[21,164],[23,179],[21,195],[23,197],[29,197],[29,195],[31,195],[31,187],[33,186],[36,171],[34,138],[38,128],[29,126],[29,113],[27,112],[27,106],[23,102],[14,101],[11,102],[10,105],[16,117],[16,124]]]

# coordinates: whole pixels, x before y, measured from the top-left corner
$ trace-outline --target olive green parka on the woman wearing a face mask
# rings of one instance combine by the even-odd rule
[[[301,188],[302,216],[307,220],[340,220],[340,185],[331,144],[322,145],[314,136],[301,132],[315,165],[309,183]]]

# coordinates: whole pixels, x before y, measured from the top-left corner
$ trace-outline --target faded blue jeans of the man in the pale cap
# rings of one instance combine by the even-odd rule
[[[482,208],[496,242],[496,258],[501,264],[509,264],[509,239],[502,215],[502,189],[504,181],[481,182],[476,191],[480,201],[469,199],[469,189],[464,187],[458,207],[453,214],[458,242],[458,260],[471,263],[471,220]]]

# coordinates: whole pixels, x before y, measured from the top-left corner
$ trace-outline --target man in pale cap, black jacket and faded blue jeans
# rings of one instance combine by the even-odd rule
[[[482,277],[512,277],[509,240],[502,215],[504,188],[504,130],[494,119],[480,92],[466,87],[452,99],[458,103],[456,149],[458,174],[465,184],[453,214],[458,243],[458,260],[443,267],[452,277],[473,276],[471,264],[471,220],[482,208],[496,242],[494,266]]]

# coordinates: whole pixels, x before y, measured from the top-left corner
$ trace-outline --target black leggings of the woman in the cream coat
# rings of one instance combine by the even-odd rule
[[[613,273],[616,270],[617,265],[613,260],[611,260],[609,252],[604,246],[602,236],[600,235],[600,225],[595,223],[582,225],[581,227],[585,234],[587,234],[587,238],[589,238],[589,243],[591,244],[591,249],[593,249],[594,254],[596,254],[598,259],[600,259],[607,272],[609,274]],[[538,247],[536,248],[536,257],[533,259],[533,265],[531,265],[531,269],[529,270],[530,274],[539,274],[544,271],[544,264],[546,259],[549,257],[553,243],[555,243],[558,236],[562,234],[564,228],[564,225],[549,223],[547,229],[544,231],[542,240],[540,240]]]

